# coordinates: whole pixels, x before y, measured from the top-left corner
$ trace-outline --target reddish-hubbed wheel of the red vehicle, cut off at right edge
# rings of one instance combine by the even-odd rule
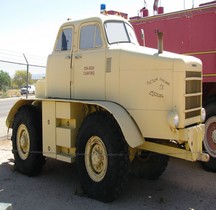
[[[209,104],[206,109],[204,150],[210,155],[208,162],[202,162],[207,171],[216,172],[216,104]]]

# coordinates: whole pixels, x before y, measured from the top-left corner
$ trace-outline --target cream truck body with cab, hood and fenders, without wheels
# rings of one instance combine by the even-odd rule
[[[115,42],[121,26],[129,41]],[[141,47],[125,19],[101,15],[61,26],[36,98],[18,101],[7,126],[23,105],[40,107],[43,155],[73,162],[80,125],[103,110],[118,122],[131,161],[142,150],[207,161],[201,102],[200,60]]]

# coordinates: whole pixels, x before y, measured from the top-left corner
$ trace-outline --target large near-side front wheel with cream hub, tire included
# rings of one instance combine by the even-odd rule
[[[128,145],[111,114],[100,111],[85,119],[76,157],[80,182],[89,197],[111,202],[119,196],[128,180]]]

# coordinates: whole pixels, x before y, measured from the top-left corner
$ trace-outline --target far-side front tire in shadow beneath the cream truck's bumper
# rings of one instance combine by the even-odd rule
[[[169,156],[153,152],[142,152],[132,162],[132,174],[141,179],[156,180],[165,171]]]

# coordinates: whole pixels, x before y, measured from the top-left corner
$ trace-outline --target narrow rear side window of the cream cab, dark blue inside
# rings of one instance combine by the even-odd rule
[[[58,42],[56,45],[56,50],[71,50],[72,46],[72,28],[63,29],[58,37]]]

